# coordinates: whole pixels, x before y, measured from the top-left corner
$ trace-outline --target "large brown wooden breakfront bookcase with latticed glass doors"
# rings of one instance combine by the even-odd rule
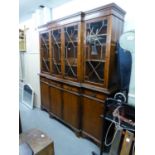
[[[117,90],[116,42],[124,15],[111,3],[39,27],[41,108],[97,144],[104,101]]]

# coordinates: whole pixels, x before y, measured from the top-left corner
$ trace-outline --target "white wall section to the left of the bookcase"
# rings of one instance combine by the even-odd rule
[[[20,59],[20,79],[24,83],[30,84],[35,92],[34,105],[40,107],[40,55],[39,55],[39,35],[34,27],[34,19],[31,18],[20,27],[26,27],[26,52],[22,52]],[[21,71],[22,69],[22,71]],[[21,73],[23,73],[21,75]]]

